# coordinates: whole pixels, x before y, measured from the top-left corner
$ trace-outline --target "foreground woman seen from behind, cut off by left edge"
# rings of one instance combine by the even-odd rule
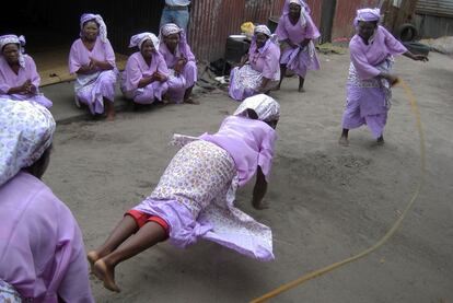
[[[80,229],[40,180],[55,131],[50,112],[0,98],[0,301],[94,302]]]

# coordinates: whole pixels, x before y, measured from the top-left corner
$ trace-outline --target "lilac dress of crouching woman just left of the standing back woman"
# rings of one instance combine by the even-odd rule
[[[248,50],[248,63],[231,70],[229,94],[236,101],[258,94],[263,78],[270,79],[265,90],[277,86],[280,80],[280,48],[270,40],[257,48],[255,40]]]

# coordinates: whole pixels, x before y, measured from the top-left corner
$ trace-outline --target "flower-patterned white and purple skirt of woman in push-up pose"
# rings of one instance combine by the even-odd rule
[[[153,193],[133,209],[165,220],[170,241],[177,247],[201,237],[271,260],[271,231],[234,207],[237,185],[231,155],[211,142],[196,140],[176,153]]]

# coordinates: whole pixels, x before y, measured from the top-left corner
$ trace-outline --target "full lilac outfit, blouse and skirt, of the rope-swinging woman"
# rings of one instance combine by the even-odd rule
[[[387,120],[392,92],[388,81],[376,77],[381,72],[391,72],[393,55],[404,54],[407,49],[382,26],[368,45],[355,35],[349,49],[351,65],[342,128],[352,129],[365,124],[373,137],[379,138]]]

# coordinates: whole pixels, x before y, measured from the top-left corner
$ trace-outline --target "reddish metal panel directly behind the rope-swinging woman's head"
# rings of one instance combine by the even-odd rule
[[[351,37],[355,34],[352,22],[356,11],[362,8],[376,8],[379,3],[379,0],[338,0],[332,38]]]

